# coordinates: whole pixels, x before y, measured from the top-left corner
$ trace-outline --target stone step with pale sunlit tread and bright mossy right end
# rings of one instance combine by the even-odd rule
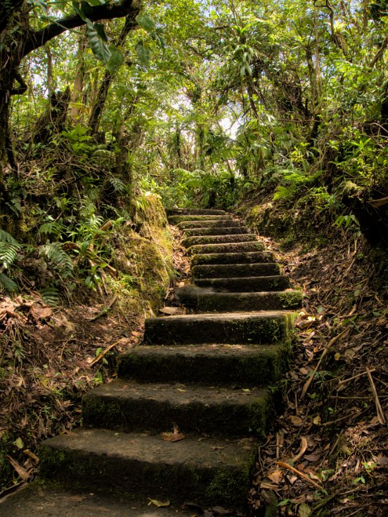
[[[144,342],[151,345],[238,343],[274,344],[287,341],[289,313],[188,314],[145,320]]]

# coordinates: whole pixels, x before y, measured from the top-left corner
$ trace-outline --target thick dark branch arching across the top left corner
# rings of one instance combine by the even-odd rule
[[[92,22],[123,18],[124,16],[135,18],[140,11],[140,7],[141,0],[120,0],[112,4],[92,7],[88,18]],[[20,48],[20,59],[43,46],[47,41],[57,37],[59,34],[70,29],[75,29],[76,27],[82,27],[85,23],[86,22],[84,22],[79,15],[72,15],[66,18],[60,18],[60,20],[56,20],[50,25],[47,25],[44,29],[27,34],[27,38]]]

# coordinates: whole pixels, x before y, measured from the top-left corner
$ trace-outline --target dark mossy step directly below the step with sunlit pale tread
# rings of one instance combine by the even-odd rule
[[[250,388],[275,384],[285,365],[287,353],[280,345],[148,345],[120,355],[117,375],[138,382]]]

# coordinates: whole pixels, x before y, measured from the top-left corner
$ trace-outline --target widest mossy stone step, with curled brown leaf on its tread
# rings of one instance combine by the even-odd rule
[[[167,442],[160,436],[78,429],[45,440],[41,478],[91,492],[245,510],[254,440]]]

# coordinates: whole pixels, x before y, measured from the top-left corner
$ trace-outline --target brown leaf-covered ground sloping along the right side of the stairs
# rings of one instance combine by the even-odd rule
[[[309,252],[261,238],[305,298],[284,412],[259,447],[252,509],[387,515],[387,266],[370,260],[362,237],[339,235]]]

